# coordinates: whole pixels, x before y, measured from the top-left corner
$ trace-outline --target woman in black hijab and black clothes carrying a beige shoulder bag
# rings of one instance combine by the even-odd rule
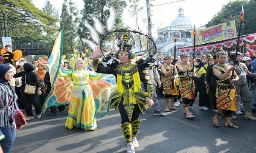
[[[23,98],[23,102],[25,105],[25,111],[26,111],[26,120],[30,120],[30,119],[34,119],[33,116],[33,111],[32,111],[32,106],[33,105],[35,107],[35,113],[36,113],[36,117],[37,118],[41,118],[41,105],[39,102],[39,95],[42,94],[41,91],[41,85],[40,85],[40,81],[38,78],[38,75],[34,72],[35,70],[35,66],[31,63],[25,63],[23,65],[24,71],[15,74],[13,77],[17,78],[17,77],[22,77],[22,84],[21,84],[21,95]],[[25,83],[25,78],[26,78],[26,83]],[[25,84],[28,85],[35,85],[36,86],[36,90],[35,90],[35,94],[26,94],[24,93],[25,90]]]

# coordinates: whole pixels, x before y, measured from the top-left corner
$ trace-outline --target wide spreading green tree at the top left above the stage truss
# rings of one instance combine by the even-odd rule
[[[43,30],[56,19],[36,8],[31,0],[0,0],[0,22],[6,20],[8,35],[12,42],[46,42]],[[23,26],[26,22],[27,26]],[[3,28],[0,31],[4,34]]]

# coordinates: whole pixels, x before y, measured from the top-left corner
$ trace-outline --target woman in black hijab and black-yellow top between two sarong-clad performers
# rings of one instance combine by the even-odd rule
[[[204,63],[201,59],[197,58],[195,59],[195,73],[196,77],[194,77],[195,82],[195,97],[197,96],[199,92],[199,107],[198,109],[201,110],[208,110],[206,107],[206,68],[204,67]]]

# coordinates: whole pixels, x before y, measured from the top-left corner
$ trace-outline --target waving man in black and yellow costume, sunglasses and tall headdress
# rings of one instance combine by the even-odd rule
[[[154,88],[149,81],[148,71],[143,64],[133,63],[131,59],[135,57],[131,48],[134,41],[130,41],[128,33],[125,32],[123,39],[118,42],[119,51],[111,65],[104,66],[99,61],[100,46],[97,46],[93,52],[93,69],[103,74],[113,74],[116,77],[116,91],[114,91],[108,102],[110,107],[114,106],[116,111],[119,109],[122,118],[122,132],[127,142],[127,153],[135,153],[134,147],[138,147],[137,132],[140,129],[139,114],[143,106],[151,107],[153,105],[152,97]],[[103,59],[104,60],[104,59]],[[143,82],[145,92],[141,89]]]

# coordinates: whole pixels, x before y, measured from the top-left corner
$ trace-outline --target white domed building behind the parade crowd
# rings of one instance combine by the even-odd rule
[[[161,49],[163,54],[173,54],[174,35],[178,35],[177,47],[192,45],[190,32],[194,30],[194,24],[185,17],[184,10],[178,10],[178,16],[172,21],[171,25],[158,29],[159,40],[157,41],[157,49]],[[179,54],[179,53],[177,53]]]

